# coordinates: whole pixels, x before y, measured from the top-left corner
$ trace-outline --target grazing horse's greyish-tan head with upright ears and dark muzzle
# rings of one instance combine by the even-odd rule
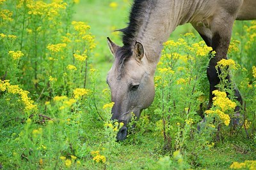
[[[107,77],[111,100],[115,103],[111,120],[124,123],[116,137],[120,141],[127,136],[127,124],[132,113],[139,118],[141,111],[154,100],[154,73],[150,73],[141,43],[136,42],[132,48],[120,47],[108,38],[108,44],[115,56]]]

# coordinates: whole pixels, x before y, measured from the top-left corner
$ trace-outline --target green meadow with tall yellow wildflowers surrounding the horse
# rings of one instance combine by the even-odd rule
[[[106,37],[122,45],[115,30],[131,3],[0,0],[0,169],[256,169],[255,21],[235,22],[210,110],[214,52],[191,25],[178,27],[164,43],[154,103],[116,142]]]

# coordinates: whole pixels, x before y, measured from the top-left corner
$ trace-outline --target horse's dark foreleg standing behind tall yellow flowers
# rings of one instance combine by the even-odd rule
[[[227,59],[227,51],[232,34],[234,19],[235,18],[230,15],[216,16],[212,19],[211,27],[209,28],[198,27],[196,24],[193,24],[193,27],[195,27],[196,31],[199,32],[205,43],[208,46],[211,46],[212,50],[216,52],[215,57],[211,58],[209,67],[207,67],[207,78],[210,83],[208,108],[211,108],[212,106],[212,97],[214,97],[212,91],[216,90],[216,85],[220,83],[220,78],[218,76],[218,72],[220,73],[220,70],[216,70],[216,65],[221,59]],[[227,76],[227,79],[230,81],[229,75]],[[242,104],[243,101],[239,91],[237,89],[234,91],[237,101]],[[236,111],[238,110],[239,107],[237,106]]]

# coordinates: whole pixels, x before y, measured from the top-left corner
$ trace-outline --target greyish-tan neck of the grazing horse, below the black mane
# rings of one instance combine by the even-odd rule
[[[143,44],[147,59],[152,64],[159,61],[163,43],[177,25],[183,24],[183,10],[184,0],[164,0],[157,1],[152,11],[145,14],[136,41]]]

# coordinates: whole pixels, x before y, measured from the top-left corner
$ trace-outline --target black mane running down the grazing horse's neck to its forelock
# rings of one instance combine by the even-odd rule
[[[138,40],[136,37],[145,20],[145,13],[147,13],[147,8],[151,8],[150,4],[152,5],[153,1],[155,0],[134,0],[127,27],[118,30],[122,32],[124,46],[116,51],[117,66],[122,66],[125,60],[131,57],[135,41]]]

